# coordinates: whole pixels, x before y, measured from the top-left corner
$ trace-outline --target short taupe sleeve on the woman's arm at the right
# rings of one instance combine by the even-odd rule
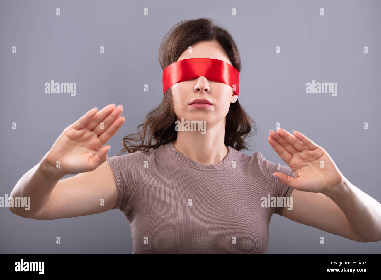
[[[271,162],[269,160],[266,160],[266,158],[259,152],[257,152],[257,157],[259,159],[259,162],[262,165],[264,173],[266,173],[267,178],[270,180],[271,185],[274,187],[274,189],[277,193],[277,196],[278,197],[289,197],[291,192],[294,189],[292,187],[289,187],[289,186],[282,184],[279,181],[279,179],[275,178],[271,174],[274,172],[280,172],[280,173],[286,174],[287,176],[297,178],[295,173],[288,166],[283,166],[283,165],[280,165],[280,163],[274,163],[274,162]],[[286,208],[286,206],[275,208],[274,213],[282,216],[282,209],[283,208]]]

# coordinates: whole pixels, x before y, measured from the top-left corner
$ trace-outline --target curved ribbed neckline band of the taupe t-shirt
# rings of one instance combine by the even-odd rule
[[[173,142],[168,142],[165,144],[165,146],[167,147],[169,152],[174,157],[176,157],[178,160],[180,160],[181,162],[183,162],[189,166],[192,166],[194,168],[202,169],[202,170],[219,170],[221,168],[224,168],[227,165],[232,164],[232,160],[233,160],[234,154],[235,154],[235,149],[233,149],[230,146],[226,146],[228,149],[227,155],[221,162],[215,163],[215,164],[207,164],[207,163],[196,162],[196,161],[192,160],[191,158],[186,157],[185,155],[181,154],[181,152],[179,152],[174,147]]]

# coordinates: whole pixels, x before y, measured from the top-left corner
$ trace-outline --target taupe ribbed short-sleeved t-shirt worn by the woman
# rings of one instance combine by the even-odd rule
[[[130,224],[133,254],[267,253],[270,218],[282,208],[263,207],[262,198],[293,191],[271,173],[296,175],[259,152],[227,148],[216,164],[186,157],[173,142],[107,159],[118,191],[113,209]]]

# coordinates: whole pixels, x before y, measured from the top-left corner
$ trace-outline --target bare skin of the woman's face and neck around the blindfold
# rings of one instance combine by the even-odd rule
[[[221,46],[210,41],[195,44],[192,46],[192,53],[184,51],[177,61],[187,58],[214,58],[232,65]],[[176,83],[171,89],[177,120],[184,118],[206,121],[206,134],[201,134],[200,131],[178,131],[177,139],[173,142],[174,147],[196,162],[221,162],[228,151],[224,145],[226,115],[230,104],[237,100],[237,94],[229,85],[205,77]],[[189,106],[195,99],[207,99],[213,106],[203,109]]]

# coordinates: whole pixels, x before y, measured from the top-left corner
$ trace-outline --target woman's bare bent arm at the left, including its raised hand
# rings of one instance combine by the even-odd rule
[[[106,162],[110,146],[102,146],[123,125],[122,111],[115,104],[99,112],[94,108],[68,126],[10,194],[30,197],[30,209],[10,207],[10,211],[24,218],[51,220],[114,208],[117,186]],[[62,179],[66,174],[77,175]]]

